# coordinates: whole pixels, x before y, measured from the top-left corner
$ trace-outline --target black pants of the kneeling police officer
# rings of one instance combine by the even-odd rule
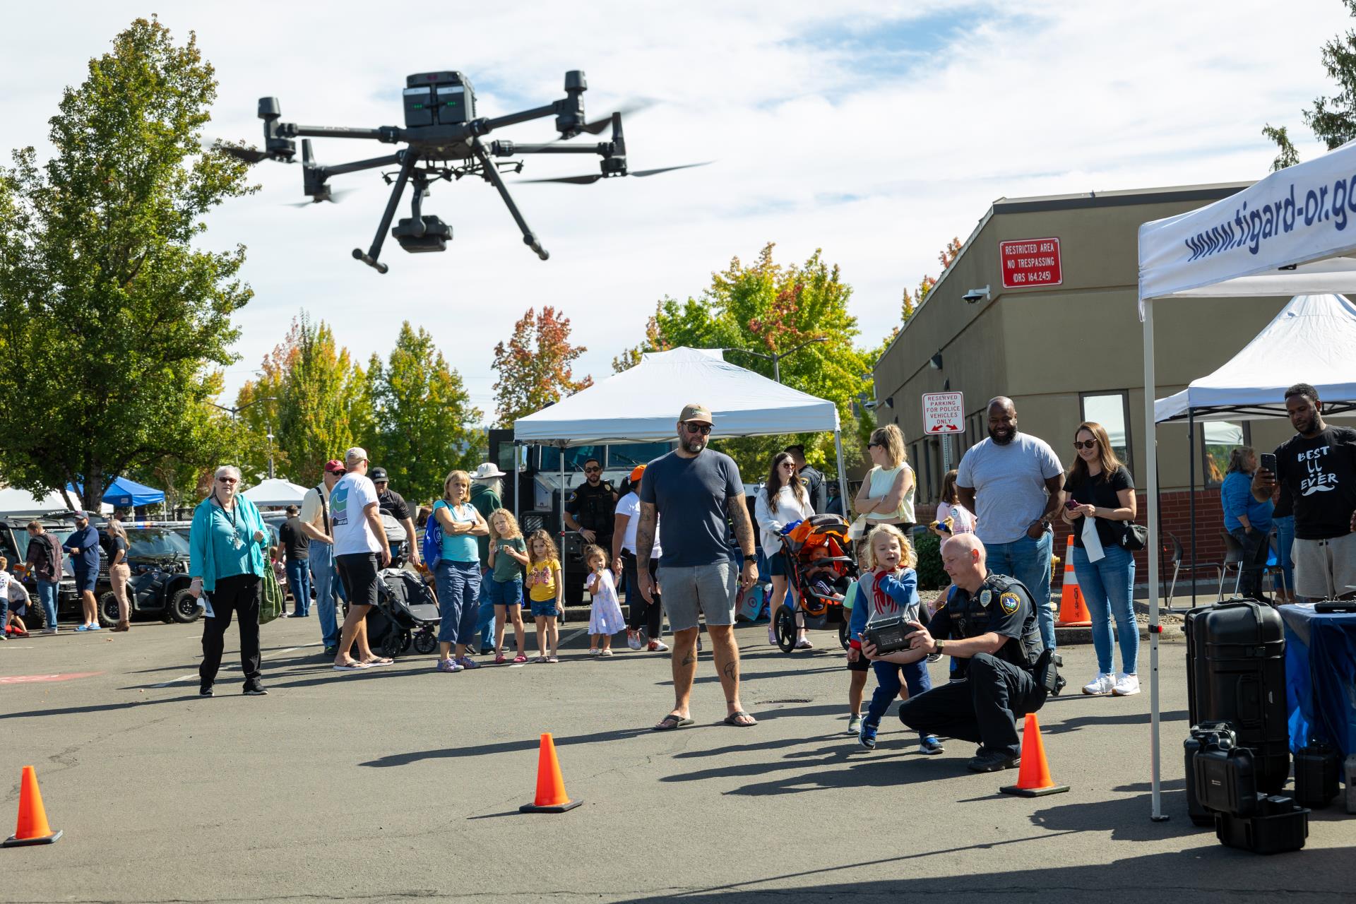
[[[1021,754],[1017,718],[1045,702],[1031,672],[979,653],[968,678],[934,687],[899,705],[899,721],[923,735],[975,741],[980,754]]]

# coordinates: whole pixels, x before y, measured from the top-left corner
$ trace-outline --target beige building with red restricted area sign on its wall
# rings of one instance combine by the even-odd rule
[[[1124,446],[1135,484],[1143,488],[1139,468],[1149,431],[1136,295],[1139,226],[1249,184],[997,201],[873,374],[877,420],[903,430],[918,474],[918,501],[937,500],[944,474],[942,440],[922,434],[922,394],[942,390],[964,393],[965,432],[949,440],[952,468],[965,449],[987,436],[989,400],[1009,396],[1017,407],[1018,428],[1048,442],[1066,468],[1073,461],[1078,423],[1104,424],[1113,442]],[[1005,260],[1018,267],[1017,272],[1025,268],[1028,276],[1054,279],[1048,243],[1036,241],[1043,239],[1058,239],[1058,285],[1005,289]],[[1021,244],[1005,258],[1001,243]],[[1177,392],[1227,362],[1287,301],[1192,298],[1155,304],[1157,396]],[[1197,424],[1196,430],[1197,488],[1210,485],[1203,474],[1220,476],[1230,446],[1242,442],[1271,450],[1294,432],[1284,420],[1211,424],[1205,430]],[[1185,523],[1174,516],[1185,512],[1186,503],[1191,462],[1185,424],[1158,428],[1158,461],[1165,530],[1178,531],[1185,541]],[[1197,529],[1200,539],[1218,530],[1218,492],[1199,493],[1197,506],[1205,510],[1199,512],[1204,519]]]

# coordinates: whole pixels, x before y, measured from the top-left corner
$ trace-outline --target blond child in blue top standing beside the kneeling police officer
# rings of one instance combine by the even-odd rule
[[[871,550],[871,571],[858,581],[858,590],[862,592],[858,592],[857,604],[852,610],[849,660],[862,655],[861,638],[869,622],[895,615],[918,621],[918,573],[914,571],[918,560],[913,546],[894,525],[876,527],[866,537],[866,543]],[[909,686],[910,697],[932,690],[925,661],[899,665],[875,660],[872,671],[876,672],[876,690],[871,695],[866,718],[862,720],[861,732],[857,735],[857,740],[866,749],[876,749],[880,720],[890,709],[891,701],[899,695],[902,686]],[[941,754],[941,741],[934,735],[921,735],[918,752]]]

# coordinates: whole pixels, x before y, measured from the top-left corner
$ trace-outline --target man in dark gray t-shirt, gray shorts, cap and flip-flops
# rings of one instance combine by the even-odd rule
[[[678,447],[650,462],[640,482],[636,583],[640,595],[654,602],[650,554],[663,512],[663,556],[656,576],[674,632],[674,707],[655,731],[692,725],[689,703],[697,676],[698,615],[706,617],[716,672],[725,693],[725,724],[739,728],[757,724],[739,703],[739,645],[734,634],[735,588],[747,590],[758,579],[754,526],[739,466],[730,455],[706,449],[711,427],[705,405],[683,408],[678,416]],[[731,561],[727,523],[734,525],[743,568]]]

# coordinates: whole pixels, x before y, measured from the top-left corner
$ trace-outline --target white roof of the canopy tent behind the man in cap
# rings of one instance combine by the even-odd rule
[[[644,355],[555,405],[519,417],[514,438],[551,446],[674,439],[683,405],[711,408],[720,436],[838,430],[838,408],[724,361],[719,348]]]

